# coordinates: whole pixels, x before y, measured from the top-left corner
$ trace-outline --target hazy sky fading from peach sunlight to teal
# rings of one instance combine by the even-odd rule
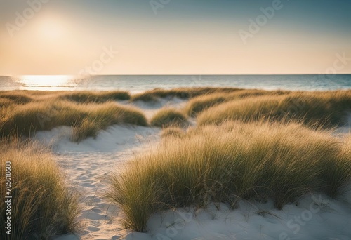
[[[0,0],[0,75],[350,74],[350,0]]]

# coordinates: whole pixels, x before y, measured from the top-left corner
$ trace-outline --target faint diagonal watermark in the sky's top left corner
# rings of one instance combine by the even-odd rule
[[[27,25],[27,22],[34,18],[35,13],[41,11],[43,4],[47,4],[49,0],[28,0],[28,7],[25,8],[22,13],[15,12],[15,22],[6,22],[5,27],[8,34],[13,37],[15,32],[19,32],[22,27]]]

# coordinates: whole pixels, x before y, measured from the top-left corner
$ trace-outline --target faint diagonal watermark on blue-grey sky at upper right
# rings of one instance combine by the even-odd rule
[[[243,41],[244,44],[247,44],[247,39],[251,39],[255,34],[258,34],[258,32],[260,32],[261,27],[267,25],[267,22],[271,20],[274,17],[275,13],[281,10],[283,6],[284,5],[282,4],[282,1],[273,0],[272,6],[268,6],[267,8],[260,8],[260,11],[263,14],[258,15],[255,20],[253,20],[252,18],[249,19],[249,27],[247,31],[243,29],[239,30],[238,33],[241,38],[241,41]]]

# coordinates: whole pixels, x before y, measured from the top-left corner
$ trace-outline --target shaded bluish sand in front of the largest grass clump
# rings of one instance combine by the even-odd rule
[[[274,209],[272,203],[241,202],[237,210],[220,204],[209,209],[168,211],[154,215],[147,234],[126,239],[351,239],[350,200],[305,196],[296,204]]]

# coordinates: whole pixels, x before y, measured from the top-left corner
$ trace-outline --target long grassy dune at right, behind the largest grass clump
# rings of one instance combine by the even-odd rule
[[[197,123],[206,125],[221,124],[227,120],[283,119],[302,121],[314,127],[333,127],[343,124],[350,110],[351,91],[296,92],[230,100],[201,112]]]

